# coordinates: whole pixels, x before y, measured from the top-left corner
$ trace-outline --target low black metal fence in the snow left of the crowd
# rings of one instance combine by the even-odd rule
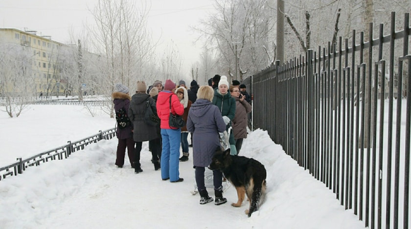
[[[53,160],[62,160],[68,158],[71,153],[84,149],[91,143],[97,143],[101,140],[110,140],[115,137],[115,128],[106,131],[99,131],[98,134],[81,139],[76,142],[68,141],[67,145],[60,146],[46,152],[39,153],[27,159],[17,158],[17,162],[6,167],[0,168],[0,181],[9,176],[23,174],[29,167],[40,166],[43,163]]]

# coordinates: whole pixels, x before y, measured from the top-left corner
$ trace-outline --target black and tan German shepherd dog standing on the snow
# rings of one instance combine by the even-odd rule
[[[267,171],[260,162],[244,156],[230,155],[230,149],[222,151],[220,148],[214,153],[209,169],[219,169],[237,190],[238,201],[233,207],[240,207],[244,194],[250,201],[250,208],[245,212],[248,216],[258,210],[264,202],[266,192]]]

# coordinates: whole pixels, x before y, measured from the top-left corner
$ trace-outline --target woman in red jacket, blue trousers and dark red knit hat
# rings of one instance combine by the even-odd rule
[[[175,90],[176,84],[171,80],[166,80],[164,89],[157,98],[157,114],[161,119],[162,137],[161,179],[163,181],[170,179],[170,182],[173,183],[184,180],[180,177],[179,172],[181,129],[172,129],[168,125],[170,112],[174,115],[183,115],[184,113],[184,106],[180,103],[177,95],[174,94]]]

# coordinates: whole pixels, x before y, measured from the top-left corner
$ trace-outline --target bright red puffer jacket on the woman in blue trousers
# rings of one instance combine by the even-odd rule
[[[171,129],[168,125],[168,119],[170,117],[170,96],[171,96],[171,113],[177,115],[183,115],[184,106],[180,103],[176,94],[171,91],[160,91],[157,98],[157,114],[161,120],[161,129]]]

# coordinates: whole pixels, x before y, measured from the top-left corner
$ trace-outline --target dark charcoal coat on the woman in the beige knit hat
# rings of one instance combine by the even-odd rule
[[[135,142],[146,142],[156,139],[156,126],[148,125],[144,122],[145,104],[148,100],[153,112],[157,112],[156,102],[146,93],[136,93],[131,97],[128,116],[133,123],[133,139]]]

